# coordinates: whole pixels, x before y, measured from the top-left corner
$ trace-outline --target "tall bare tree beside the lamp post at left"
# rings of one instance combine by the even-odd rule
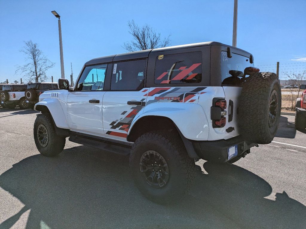
[[[44,82],[47,80],[46,71],[52,68],[55,63],[51,62],[43,52],[38,48],[37,43],[24,41],[25,46],[20,50],[25,55],[25,61],[28,62],[22,66],[17,65],[16,72],[21,72],[28,81]]]

